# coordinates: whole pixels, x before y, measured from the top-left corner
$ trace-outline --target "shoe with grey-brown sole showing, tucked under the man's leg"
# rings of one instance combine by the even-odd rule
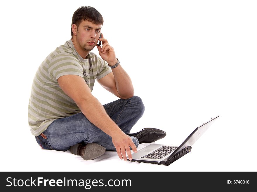
[[[80,155],[84,160],[92,160],[103,155],[106,149],[97,143],[79,143],[71,146],[70,152],[74,155]]]

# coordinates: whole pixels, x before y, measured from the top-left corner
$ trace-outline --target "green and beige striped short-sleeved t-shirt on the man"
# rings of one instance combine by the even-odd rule
[[[60,88],[62,75],[79,75],[93,90],[99,80],[112,70],[93,52],[83,59],[70,39],[46,57],[39,66],[32,83],[28,120],[32,135],[40,135],[55,120],[81,112],[76,103]]]

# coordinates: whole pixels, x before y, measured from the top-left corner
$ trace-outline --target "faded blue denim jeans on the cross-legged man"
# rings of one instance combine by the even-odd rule
[[[145,106],[138,96],[119,99],[105,104],[103,107],[109,117],[126,134],[142,117],[145,110]],[[138,147],[138,139],[133,136],[130,137]],[[82,112],[70,117],[56,119],[43,133],[36,136],[36,140],[43,149],[66,151],[70,149],[70,146],[80,142],[95,142],[105,147],[106,150],[116,151],[112,138],[92,124]]]

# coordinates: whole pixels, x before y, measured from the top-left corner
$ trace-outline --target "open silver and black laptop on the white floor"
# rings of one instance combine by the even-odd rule
[[[180,157],[191,152],[192,145],[202,136],[202,134],[213,124],[216,119],[220,117],[211,118],[211,120],[198,126],[179,147],[150,144],[138,150],[137,153],[132,154],[131,161],[154,163],[159,165],[170,165]],[[127,160],[129,158],[127,157]],[[129,160],[130,161],[130,160]]]

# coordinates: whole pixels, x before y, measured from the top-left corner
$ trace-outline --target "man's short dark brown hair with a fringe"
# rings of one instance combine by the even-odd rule
[[[92,22],[93,24],[96,24],[96,25],[99,25],[99,24],[103,25],[103,17],[98,12],[98,10],[90,6],[88,7],[82,6],[73,13],[71,30],[70,30],[71,36],[73,36],[72,24],[75,24],[77,25],[77,27],[79,27],[79,24],[82,22],[82,19],[84,21]]]

